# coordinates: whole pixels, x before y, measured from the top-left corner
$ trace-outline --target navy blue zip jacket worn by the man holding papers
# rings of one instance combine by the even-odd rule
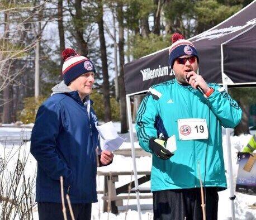
[[[61,203],[60,176],[71,203],[97,202],[97,117],[77,91],[54,94],[36,115],[31,154],[37,160],[36,202]],[[70,187],[69,187],[70,186]]]

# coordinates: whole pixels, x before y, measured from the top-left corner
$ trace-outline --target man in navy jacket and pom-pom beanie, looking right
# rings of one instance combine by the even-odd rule
[[[40,106],[31,136],[31,154],[37,160],[36,202],[39,219],[63,219],[60,176],[69,194],[75,219],[91,219],[97,202],[97,117],[89,94],[94,65],[73,49],[63,51],[64,81],[53,88]],[[113,154],[101,152],[99,164],[108,165]],[[67,202],[67,201],[65,201]],[[67,207],[67,205],[66,205]],[[67,216],[70,213],[67,209]]]

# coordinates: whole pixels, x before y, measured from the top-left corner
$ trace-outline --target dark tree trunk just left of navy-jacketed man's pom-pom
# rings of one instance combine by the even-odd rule
[[[64,33],[64,27],[63,27],[63,0],[58,0],[58,29],[59,29],[59,39],[60,39],[60,77],[61,77],[62,66],[64,63],[61,53],[65,49],[65,33]]]

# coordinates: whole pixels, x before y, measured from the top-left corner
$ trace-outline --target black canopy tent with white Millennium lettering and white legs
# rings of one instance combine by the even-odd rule
[[[189,39],[195,45],[199,56],[199,74],[206,82],[233,87],[256,85],[256,0],[219,25]],[[135,188],[137,192],[138,212],[140,201],[138,182],[136,181],[136,162],[130,96],[145,93],[154,84],[173,79],[175,76],[168,64],[168,48],[154,52],[144,58],[124,65],[125,90],[129,132],[134,162]],[[226,130],[227,154],[229,155],[230,185],[233,185],[230,151],[230,131]],[[230,197],[234,198],[234,189],[230,188]],[[234,199],[231,199],[232,217],[235,219]]]

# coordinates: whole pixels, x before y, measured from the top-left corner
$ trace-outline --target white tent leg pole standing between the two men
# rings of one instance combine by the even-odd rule
[[[132,154],[132,163],[134,165],[134,183],[135,183],[135,191],[137,198],[137,207],[138,207],[138,215],[139,220],[141,220],[141,211],[140,211],[140,191],[138,184],[138,176],[137,176],[137,168],[136,168],[136,157],[135,157],[135,148],[134,148],[134,132],[132,129],[132,118],[131,118],[131,99],[129,95],[126,95],[126,104],[127,104],[127,114],[128,114],[128,122],[129,122],[129,133],[131,140],[131,154]]]

